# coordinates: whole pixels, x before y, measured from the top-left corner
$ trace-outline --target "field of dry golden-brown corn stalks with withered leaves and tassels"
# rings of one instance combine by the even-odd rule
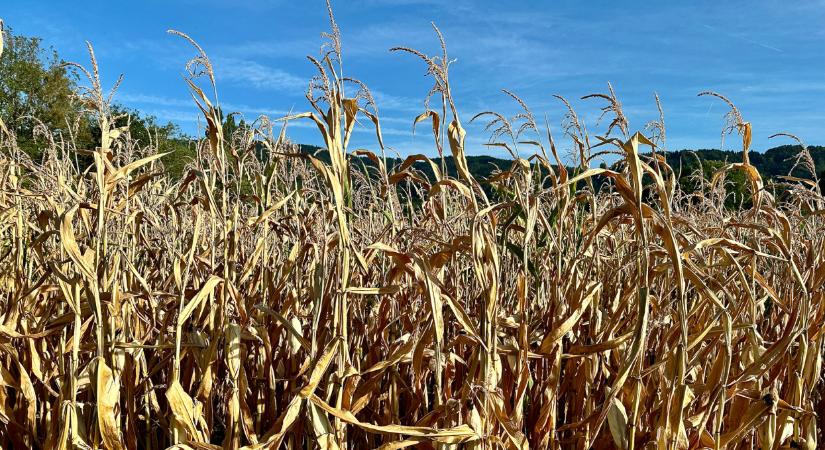
[[[393,51],[433,81],[410,124],[440,156],[387,158],[330,24],[309,112],[232,135],[207,54],[171,32],[192,45],[185,88],[206,127],[181,178],[115,126],[118,83],[91,46],[77,95],[99,147],[40,129],[33,161],[0,122],[0,446],[818,447],[815,173],[774,195],[750,124],[712,92],[743,160],[693,193],[665,162],[664,115],[632,132],[612,88],[588,96],[602,134],[559,98],[570,155],[509,91],[517,115],[460,118],[437,28],[440,54]],[[468,169],[470,119],[514,156],[489,179]],[[286,138],[295,121],[328,158]],[[373,150],[349,148],[357,126]],[[732,172],[748,206],[725,207]]]

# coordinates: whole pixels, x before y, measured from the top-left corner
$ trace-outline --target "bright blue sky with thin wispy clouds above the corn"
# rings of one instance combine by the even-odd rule
[[[591,132],[601,103],[580,100],[611,82],[632,130],[656,117],[654,92],[665,109],[668,148],[719,148],[718,100],[697,97],[715,90],[730,97],[753,124],[753,147],[795,133],[825,144],[825,1],[467,1],[338,0],[346,75],[373,91],[385,140],[401,154],[432,154],[422,127],[431,81],[419,60],[388,49],[403,45],[437,51],[430,22],[443,31],[451,57],[451,82],[464,122],[484,110],[518,110],[507,88],[537,117],[547,116],[557,137],[564,113],[552,97],[573,103]],[[167,35],[190,34],[212,58],[224,108],[248,119],[308,110],[303,97],[314,74],[306,55],[318,53],[328,21],[322,0],[230,2],[132,1],[4,2],[2,14],[16,33],[37,35],[65,59],[86,63],[85,40],[95,47],[104,79],[120,73],[116,100],[197,129],[197,109],[182,80],[192,48]],[[502,156],[470,128],[468,153]],[[317,144],[308,124],[290,127],[295,141]],[[729,138],[725,148],[737,148]],[[561,147],[569,146],[563,143]],[[351,149],[377,149],[368,129]]]

